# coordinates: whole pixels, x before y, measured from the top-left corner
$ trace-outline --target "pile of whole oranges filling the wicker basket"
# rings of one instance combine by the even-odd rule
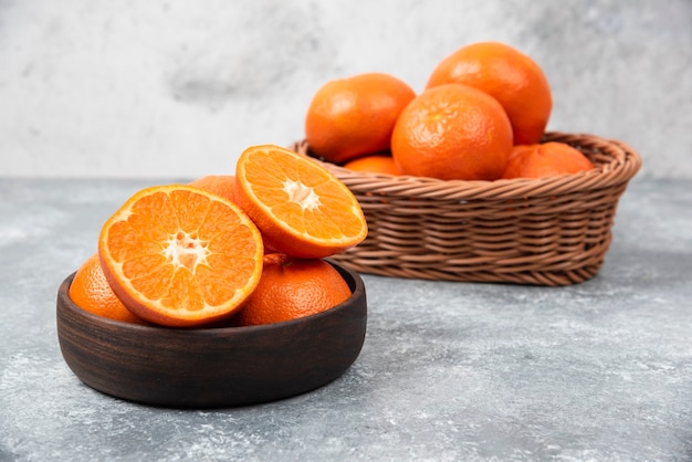
[[[541,66],[499,42],[460,48],[416,92],[386,73],[317,90],[311,153],[348,169],[442,180],[541,178],[594,168],[578,149],[541,143],[553,98]]]

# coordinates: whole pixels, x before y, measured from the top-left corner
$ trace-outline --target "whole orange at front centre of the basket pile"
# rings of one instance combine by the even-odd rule
[[[418,95],[399,115],[391,155],[403,175],[495,180],[512,151],[512,127],[495,98],[460,84]]]

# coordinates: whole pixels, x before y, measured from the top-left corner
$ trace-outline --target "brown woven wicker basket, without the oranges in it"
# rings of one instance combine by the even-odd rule
[[[360,244],[333,259],[384,276],[570,285],[591,279],[610,245],[618,200],[641,167],[626,144],[547,133],[596,166],[541,179],[439,180],[353,171],[318,160],[356,196]],[[292,149],[311,156],[305,141]]]

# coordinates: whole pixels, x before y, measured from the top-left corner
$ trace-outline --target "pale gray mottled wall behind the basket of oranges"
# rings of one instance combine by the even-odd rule
[[[196,177],[303,136],[327,80],[420,92],[461,45],[533,56],[549,129],[618,138],[690,178],[689,0],[0,0],[0,176]]]

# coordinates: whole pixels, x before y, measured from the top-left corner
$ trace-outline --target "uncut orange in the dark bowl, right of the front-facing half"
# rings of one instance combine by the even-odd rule
[[[252,326],[296,319],[332,308],[350,295],[346,281],[324,260],[266,255],[260,284],[235,321]]]

